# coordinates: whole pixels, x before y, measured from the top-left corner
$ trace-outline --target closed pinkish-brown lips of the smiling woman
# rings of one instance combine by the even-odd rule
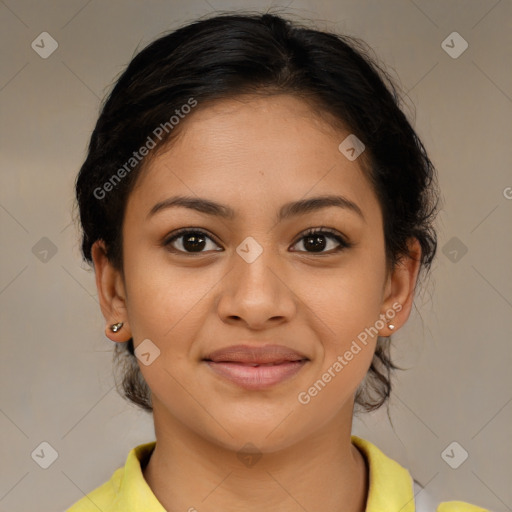
[[[304,354],[283,345],[234,345],[216,350],[204,359],[217,375],[254,391],[293,377],[308,361]]]

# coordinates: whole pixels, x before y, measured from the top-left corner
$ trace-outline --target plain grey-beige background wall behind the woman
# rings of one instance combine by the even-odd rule
[[[354,433],[437,500],[512,510],[510,1],[0,0],[0,511],[63,510],[154,439],[151,416],[116,392],[113,343],[71,217],[100,99],[162,32],[276,5],[374,48],[408,93],[443,191],[432,278],[394,336],[410,368],[396,380],[394,429],[383,408],[356,419]],[[46,59],[31,47],[44,31],[58,42]],[[454,31],[469,44],[458,58],[441,47]],[[31,457],[43,441],[58,452],[48,469]],[[453,441],[469,454],[457,469],[441,456]]]

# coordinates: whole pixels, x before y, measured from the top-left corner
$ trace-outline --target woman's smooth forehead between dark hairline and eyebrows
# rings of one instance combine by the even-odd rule
[[[182,123],[179,137],[139,177],[132,207],[149,212],[171,195],[197,195],[247,218],[288,201],[339,193],[370,216],[380,214],[361,160],[350,161],[338,149],[350,132],[299,98],[199,104]]]

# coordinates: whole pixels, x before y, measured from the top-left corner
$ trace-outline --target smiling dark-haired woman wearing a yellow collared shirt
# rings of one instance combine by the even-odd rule
[[[390,336],[436,252],[434,168],[362,45],[270,14],[158,39],[104,104],[76,192],[156,442],[69,511],[484,510],[429,509],[351,435],[390,395]]]

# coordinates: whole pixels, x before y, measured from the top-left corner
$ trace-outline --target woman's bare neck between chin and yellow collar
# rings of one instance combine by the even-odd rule
[[[352,445],[350,428],[340,422],[330,422],[300,443],[252,458],[179,422],[165,430],[157,428],[159,423],[155,415],[157,444],[143,474],[166,510],[366,509],[366,459]],[[163,424],[169,426],[169,418]]]

